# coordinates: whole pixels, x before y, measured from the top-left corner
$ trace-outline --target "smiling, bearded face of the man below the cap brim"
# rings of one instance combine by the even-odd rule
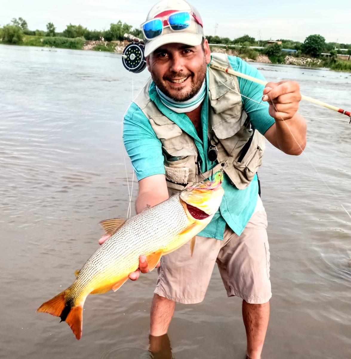
[[[175,101],[187,101],[199,91],[210,61],[206,39],[203,47],[180,43],[163,45],[146,58],[157,87]]]

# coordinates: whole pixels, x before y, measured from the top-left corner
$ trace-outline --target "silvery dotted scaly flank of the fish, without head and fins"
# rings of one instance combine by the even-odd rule
[[[72,290],[85,294],[95,289],[87,286],[89,282],[95,287],[100,282],[115,283],[121,274],[129,274],[138,268],[141,255],[167,248],[188,225],[189,219],[179,194],[132,217],[83,265]]]

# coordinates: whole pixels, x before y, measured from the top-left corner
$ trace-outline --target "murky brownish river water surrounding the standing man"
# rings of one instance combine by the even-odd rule
[[[351,74],[253,66],[350,109]],[[0,46],[0,358],[150,357],[156,271],[88,297],[80,341],[35,313],[96,250],[98,222],[126,215],[121,121],[147,78],[120,55]],[[309,103],[300,113],[330,120],[307,118],[304,154],[268,146],[260,169],[273,291],[263,358],[350,358],[351,127]],[[217,267],[202,303],[177,305],[168,334],[177,359],[244,358],[241,300],[226,297]]]

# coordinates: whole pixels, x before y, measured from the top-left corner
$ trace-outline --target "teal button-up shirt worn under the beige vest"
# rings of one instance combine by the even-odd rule
[[[240,58],[229,56],[229,62],[235,71],[264,80],[255,67],[248,65]],[[241,78],[238,78],[238,81],[240,93],[245,96],[242,97],[244,110],[255,129],[264,134],[273,125],[274,119],[269,116],[267,107],[258,106],[257,102],[246,98],[249,97],[260,102],[264,86]],[[208,71],[206,82],[208,92]],[[205,141],[199,138],[187,115],[176,113],[164,106],[156,92],[154,83],[150,85],[149,96],[165,116],[193,138],[201,158],[201,171],[206,172],[211,169],[211,162],[207,158],[208,96],[205,97],[201,111],[202,138]],[[154,174],[165,174],[161,142],[155,135],[149,120],[135,103],[130,105],[124,117],[123,140],[138,181]],[[240,236],[254,213],[258,196],[257,176],[244,190],[238,190],[230,184],[229,178],[225,175],[222,187],[224,196],[220,208],[207,227],[198,234],[199,236],[222,240],[226,224]]]

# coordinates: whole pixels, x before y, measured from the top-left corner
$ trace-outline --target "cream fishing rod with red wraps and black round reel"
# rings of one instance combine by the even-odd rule
[[[146,60],[145,60],[145,56],[144,56],[144,50],[145,50],[145,43],[144,40],[139,39],[138,37],[135,37],[131,34],[124,34],[124,39],[129,41],[130,43],[125,47],[125,49],[123,50],[122,53],[122,63],[124,65],[124,67],[130,71],[130,72],[134,72],[134,73],[140,73],[141,71],[143,71],[146,67]],[[217,65],[213,65],[210,64],[210,67],[212,69],[216,69],[216,70],[220,70],[223,72],[226,72],[228,74],[231,75],[235,75],[237,77],[241,77],[243,79],[255,82],[257,84],[260,85],[266,85],[268,84],[268,81],[263,81],[260,79],[256,79],[253,76],[249,76],[249,75],[245,75],[242,74],[238,71],[234,71],[232,69],[228,69],[222,66],[217,66]],[[348,117],[350,117],[350,122],[351,123],[351,111],[346,111],[342,108],[338,108],[336,106],[332,106],[326,102],[322,102],[319,101],[315,98],[306,96],[306,95],[301,95],[301,99],[311,102],[315,105],[318,106],[322,106],[328,109],[331,109],[333,111],[336,111],[338,113],[342,113],[343,115],[346,115]]]

